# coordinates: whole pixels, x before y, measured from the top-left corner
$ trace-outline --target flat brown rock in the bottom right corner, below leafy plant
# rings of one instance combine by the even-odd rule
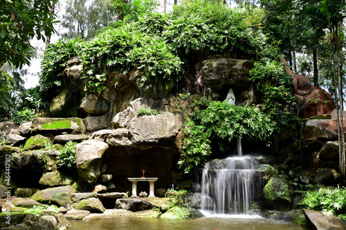
[[[342,230],[346,229],[343,219],[334,215],[323,215],[320,211],[303,209],[307,218],[307,224],[311,229],[316,230]]]

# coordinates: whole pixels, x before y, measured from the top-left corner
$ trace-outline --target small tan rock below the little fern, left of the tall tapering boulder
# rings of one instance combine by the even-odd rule
[[[46,172],[42,175],[42,178],[39,179],[39,184],[44,187],[64,186],[73,184],[74,182],[74,178],[57,170]]]

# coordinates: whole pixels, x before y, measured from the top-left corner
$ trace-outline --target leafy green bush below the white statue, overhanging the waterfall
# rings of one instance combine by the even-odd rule
[[[200,111],[195,108],[190,122],[184,128],[185,139],[179,164],[185,166],[186,173],[211,154],[212,138],[230,141],[233,137],[246,137],[248,140],[270,144],[275,122],[258,108],[247,104],[236,106],[203,97],[199,103],[206,109]],[[222,145],[219,147],[224,151]]]

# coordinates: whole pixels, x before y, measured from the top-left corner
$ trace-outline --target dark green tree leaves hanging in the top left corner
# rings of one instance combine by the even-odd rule
[[[6,61],[16,67],[30,64],[34,56],[30,40],[34,37],[45,41],[51,36],[54,15],[52,3],[56,0],[3,0],[0,4],[0,64]]]

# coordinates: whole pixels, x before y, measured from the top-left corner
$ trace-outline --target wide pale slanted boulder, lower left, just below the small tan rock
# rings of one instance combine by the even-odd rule
[[[67,207],[71,201],[71,193],[73,186],[61,186],[55,188],[44,189],[31,196],[31,199],[43,204],[56,204],[58,206]]]

